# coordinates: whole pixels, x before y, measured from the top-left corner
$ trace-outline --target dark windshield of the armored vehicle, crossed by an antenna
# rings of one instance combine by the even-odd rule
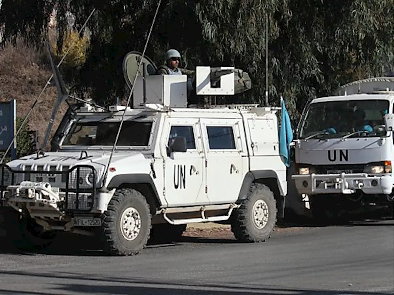
[[[65,137],[65,146],[112,146],[120,122],[76,122]],[[125,121],[117,146],[147,146],[152,122]]]

